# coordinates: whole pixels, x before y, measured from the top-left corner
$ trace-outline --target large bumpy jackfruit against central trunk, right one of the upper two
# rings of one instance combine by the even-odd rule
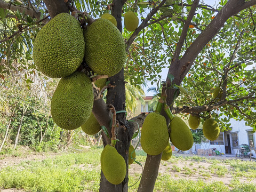
[[[125,43],[120,31],[109,20],[95,20],[84,30],[85,62],[94,73],[116,75],[126,59]]]

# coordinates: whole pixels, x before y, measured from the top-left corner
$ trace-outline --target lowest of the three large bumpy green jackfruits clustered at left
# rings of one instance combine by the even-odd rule
[[[51,100],[53,121],[62,129],[77,129],[89,118],[93,99],[91,79],[84,73],[62,77]]]

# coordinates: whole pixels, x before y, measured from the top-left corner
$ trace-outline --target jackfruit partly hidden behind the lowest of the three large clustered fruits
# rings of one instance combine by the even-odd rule
[[[90,135],[96,134],[101,130],[101,126],[94,117],[93,113],[91,113],[89,119],[83,125],[81,125],[81,128],[86,134]]]

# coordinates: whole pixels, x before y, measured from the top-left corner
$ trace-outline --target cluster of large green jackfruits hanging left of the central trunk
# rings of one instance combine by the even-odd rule
[[[116,28],[115,18],[103,14],[83,31],[72,15],[60,13],[37,34],[33,58],[43,74],[62,78],[51,101],[54,122],[67,130],[83,125],[88,134],[98,132],[100,125],[91,113],[91,79],[77,69],[83,60],[99,75],[113,76],[122,69],[126,58],[125,43]],[[99,79],[95,84],[101,89],[106,81]],[[93,130],[89,130],[92,125]]]

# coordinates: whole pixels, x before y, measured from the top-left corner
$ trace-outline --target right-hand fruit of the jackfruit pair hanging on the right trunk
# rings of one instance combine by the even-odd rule
[[[170,122],[169,129],[172,144],[180,150],[189,150],[194,143],[193,135],[180,117],[175,116]]]

